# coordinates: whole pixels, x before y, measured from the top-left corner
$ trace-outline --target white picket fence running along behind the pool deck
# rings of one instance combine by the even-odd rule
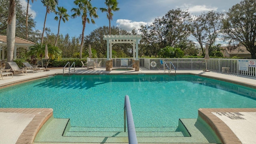
[[[121,59],[113,58],[113,67],[127,67],[121,66]],[[132,59],[128,58],[128,66],[132,64]],[[140,67],[145,67],[149,70],[164,70],[164,65],[161,64],[160,60],[166,62],[169,68],[175,66],[176,70],[204,70],[206,68],[204,58],[139,58],[139,60]],[[255,67],[248,67],[248,71],[239,70],[239,60],[256,61],[252,59],[210,58],[207,61],[207,70],[222,72],[222,69],[226,68],[230,74],[256,77]],[[106,67],[106,58],[92,58],[92,61],[96,61],[96,63],[102,61],[101,67]],[[46,61],[43,59],[43,62]],[[173,66],[170,62],[172,62]],[[38,61],[38,64],[41,64],[41,60]]]

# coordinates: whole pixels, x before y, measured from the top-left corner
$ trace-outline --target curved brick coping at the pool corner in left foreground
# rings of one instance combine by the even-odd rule
[[[18,137],[16,144],[33,144],[36,134],[45,122],[53,116],[52,108],[0,108],[0,112],[34,115],[34,118]]]

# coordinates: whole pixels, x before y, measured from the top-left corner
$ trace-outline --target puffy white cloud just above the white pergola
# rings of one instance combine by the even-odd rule
[[[140,29],[141,25],[148,25],[150,23],[147,22],[132,22],[132,20],[123,20],[123,19],[118,19],[116,20],[116,23],[119,28],[122,28],[123,30],[127,30],[128,32],[131,32],[134,28],[136,32],[139,32],[138,29]]]

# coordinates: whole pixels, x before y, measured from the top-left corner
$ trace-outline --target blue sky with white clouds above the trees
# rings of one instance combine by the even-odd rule
[[[77,8],[74,0],[58,0],[58,6],[63,6],[68,10],[71,16],[72,8]],[[158,17],[164,16],[169,10],[180,8],[188,10],[192,15],[199,15],[209,10],[228,11],[233,5],[241,0],[117,0],[119,11],[113,12],[113,20],[111,26],[118,26],[127,31],[133,28],[138,30],[141,25],[148,25],[154,22]],[[24,9],[27,6],[27,0],[20,0]],[[86,23],[84,35],[90,34],[96,28],[108,26],[106,12],[102,13],[100,8],[106,8],[105,0],[92,0],[92,6],[98,8],[97,14],[99,18],[94,19],[95,24]],[[36,21],[36,29],[43,30],[46,7],[43,6],[41,0],[30,0],[29,13]],[[47,14],[46,27],[50,28],[54,34],[58,33],[58,21],[54,20],[54,13]],[[78,37],[82,34],[82,18],[69,18],[69,21],[60,23],[60,34],[64,36],[69,34],[70,37]]]

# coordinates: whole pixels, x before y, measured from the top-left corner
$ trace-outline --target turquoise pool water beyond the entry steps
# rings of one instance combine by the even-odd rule
[[[53,108],[72,126],[123,127],[124,96],[136,127],[178,126],[199,108],[255,108],[256,90],[191,75],[53,76],[0,89],[0,108]]]

